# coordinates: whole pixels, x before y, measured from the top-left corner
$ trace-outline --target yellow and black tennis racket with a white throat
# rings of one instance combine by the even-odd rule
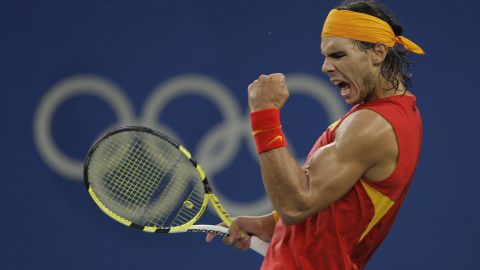
[[[194,225],[209,202],[224,224],[232,219],[190,152],[150,128],[124,126],[99,138],[88,152],[84,181],[96,205],[130,228],[229,235],[222,226]],[[255,236],[250,242],[265,256],[268,243]]]

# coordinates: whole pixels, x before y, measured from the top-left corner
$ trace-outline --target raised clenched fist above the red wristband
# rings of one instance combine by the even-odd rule
[[[260,75],[248,86],[248,105],[250,112],[266,109],[281,109],[288,99],[285,75],[274,73]]]

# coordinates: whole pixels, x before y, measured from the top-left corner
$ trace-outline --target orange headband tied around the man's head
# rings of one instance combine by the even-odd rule
[[[400,43],[406,50],[416,54],[425,52],[406,37],[395,36],[390,25],[365,13],[332,9],[323,25],[322,37],[344,37],[370,43],[384,43],[388,47]]]

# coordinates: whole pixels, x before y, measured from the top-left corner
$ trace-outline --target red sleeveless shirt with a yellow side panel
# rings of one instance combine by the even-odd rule
[[[344,197],[299,224],[288,226],[280,220],[261,269],[363,269],[387,235],[420,154],[422,121],[413,95],[354,106],[320,136],[306,164],[318,148],[335,140],[335,130],[346,117],[363,109],[378,113],[393,127],[398,145],[395,170],[380,182],[359,179]]]

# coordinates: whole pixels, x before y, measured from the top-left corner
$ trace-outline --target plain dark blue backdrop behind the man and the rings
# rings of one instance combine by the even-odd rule
[[[480,4],[384,3],[397,14],[405,36],[427,51],[413,58],[412,69],[424,145],[397,222],[367,269],[478,269]],[[53,85],[89,74],[121,88],[138,118],[157,85],[201,74],[226,86],[244,117],[246,87],[261,73],[303,73],[326,81],[319,33],[336,4],[3,1],[0,269],[258,268],[256,254],[220,241],[207,245],[200,234],[146,234],[108,219],[78,179],[62,176],[44,161],[34,141],[35,113]],[[302,97],[292,97],[283,111],[299,159],[328,125],[324,115],[322,106]],[[192,150],[208,128],[222,121],[218,109],[198,96],[175,100],[159,118]],[[295,121],[299,118],[305,121]],[[56,109],[51,130],[56,145],[80,161],[115,121],[104,101],[80,95]],[[314,124],[307,127],[306,121]],[[229,167],[216,176],[219,190],[240,203],[263,196],[259,169],[246,145],[243,141]],[[210,213],[203,221],[217,222]]]

